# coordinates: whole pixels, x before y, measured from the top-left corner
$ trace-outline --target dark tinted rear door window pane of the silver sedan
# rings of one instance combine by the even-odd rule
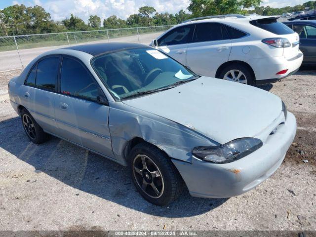
[[[59,57],[45,58],[38,63],[36,85],[46,90],[55,90]]]

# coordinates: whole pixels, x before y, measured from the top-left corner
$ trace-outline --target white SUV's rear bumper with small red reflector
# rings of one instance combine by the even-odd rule
[[[286,78],[299,70],[303,62],[303,53],[292,58],[286,59],[283,56],[267,57],[267,58],[254,58],[247,63],[253,69],[256,76],[256,84],[263,85],[273,83],[278,79]],[[287,72],[282,75],[276,73],[287,69]]]

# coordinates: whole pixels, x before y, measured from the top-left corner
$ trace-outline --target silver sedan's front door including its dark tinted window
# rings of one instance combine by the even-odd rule
[[[113,158],[109,106],[97,103],[101,88],[78,59],[63,56],[59,94],[55,99],[58,134],[71,142]],[[102,91],[102,90],[101,90]]]

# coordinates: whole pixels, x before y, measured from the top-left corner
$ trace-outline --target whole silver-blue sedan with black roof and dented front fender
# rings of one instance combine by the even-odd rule
[[[53,135],[130,166],[135,187],[166,205],[253,189],[281,164],[295,117],[264,90],[200,77],[146,45],[46,52],[9,82],[29,139]]]

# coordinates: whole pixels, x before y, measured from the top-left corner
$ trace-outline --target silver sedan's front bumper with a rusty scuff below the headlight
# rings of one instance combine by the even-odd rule
[[[172,159],[194,197],[234,197],[269,178],[282,163],[296,133],[296,119],[287,119],[257,151],[237,161],[215,164],[192,157],[192,163]]]

